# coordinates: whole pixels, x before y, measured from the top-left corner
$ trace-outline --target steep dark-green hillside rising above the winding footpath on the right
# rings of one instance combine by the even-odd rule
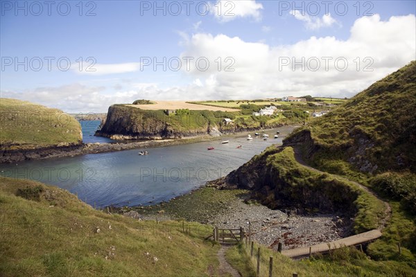
[[[285,143],[302,136],[313,140],[307,157],[328,171],[416,173],[416,62],[298,129]]]

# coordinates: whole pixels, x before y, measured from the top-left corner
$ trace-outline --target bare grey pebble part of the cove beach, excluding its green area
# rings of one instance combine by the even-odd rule
[[[283,242],[284,249],[305,247],[338,240],[349,234],[346,219],[337,215],[294,215],[259,204],[245,204],[236,199],[230,208],[218,215],[213,224],[218,228],[239,228],[248,232],[251,224],[252,240],[277,250]]]

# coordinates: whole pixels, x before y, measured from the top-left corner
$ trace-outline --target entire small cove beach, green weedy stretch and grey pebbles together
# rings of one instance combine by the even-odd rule
[[[214,204],[213,204],[214,202]],[[300,214],[296,208],[272,210],[250,199],[248,190],[200,188],[170,202],[154,206],[113,208],[141,220],[188,220],[219,228],[250,229],[252,240],[277,250],[332,242],[352,234],[352,220],[343,215]]]

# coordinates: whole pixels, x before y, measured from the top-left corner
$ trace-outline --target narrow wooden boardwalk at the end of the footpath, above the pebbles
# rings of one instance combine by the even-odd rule
[[[377,238],[381,237],[381,231],[378,229],[374,229],[372,231],[368,231],[365,233],[360,233],[358,235],[352,235],[348,238],[342,238],[340,240],[336,240],[334,242],[328,243],[321,243],[311,246],[311,253],[325,253],[328,252],[329,245],[331,245],[331,249],[336,249],[344,246],[352,246],[357,244],[362,244],[365,242],[370,242],[372,240],[376,240]],[[329,244],[329,245],[328,245]],[[300,247],[295,249],[288,249],[283,250],[281,253],[284,256],[288,256],[290,258],[299,258],[302,256],[309,256],[309,247]]]

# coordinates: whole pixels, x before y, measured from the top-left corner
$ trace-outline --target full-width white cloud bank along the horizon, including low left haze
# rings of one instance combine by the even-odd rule
[[[182,70],[182,80],[189,84],[161,88],[153,82],[125,83],[123,90],[106,93],[106,87],[87,87],[69,84],[62,87],[42,87],[28,91],[1,91],[2,97],[41,102],[64,111],[106,111],[114,103],[130,103],[137,99],[201,100],[248,99],[281,96],[349,97],[367,88],[388,73],[416,60],[415,15],[391,17],[381,21],[379,15],[362,17],[354,22],[348,39],[310,37],[295,44],[268,46],[264,43],[245,42],[239,37],[197,33],[187,36],[181,57],[207,57],[207,71],[196,68]],[[218,71],[218,57],[221,60]],[[226,62],[230,57],[234,59]],[[331,58],[325,69],[323,57]],[[305,69],[295,62],[305,61]],[[336,68],[335,60],[348,62],[347,69]],[[309,59],[309,64],[307,63]],[[327,58],[325,58],[327,59]],[[320,67],[313,71],[314,62]],[[284,65],[283,62],[289,62]],[[357,71],[357,63],[360,68]],[[225,66],[234,71],[225,71]],[[309,66],[308,66],[309,65]],[[372,71],[363,71],[370,66]],[[185,69],[186,66],[182,66]],[[117,84],[119,80],[114,80]],[[112,85],[108,84],[109,89]]]

